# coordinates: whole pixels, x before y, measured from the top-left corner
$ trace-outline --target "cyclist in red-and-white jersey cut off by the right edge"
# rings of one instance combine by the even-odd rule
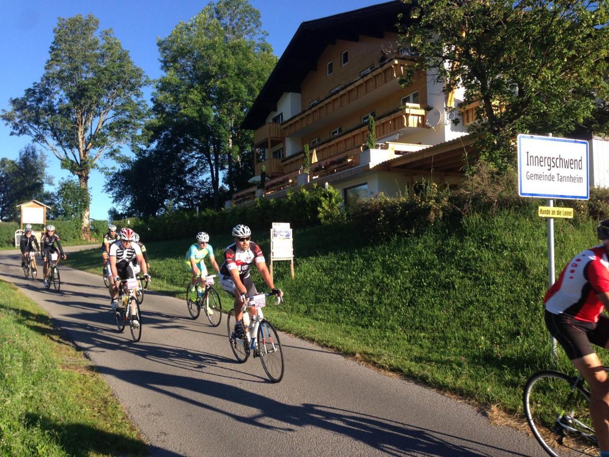
[[[600,222],[598,246],[572,258],[546,292],[546,327],[590,386],[590,417],[600,456],[609,457],[609,378],[590,343],[609,348],[609,219]]]

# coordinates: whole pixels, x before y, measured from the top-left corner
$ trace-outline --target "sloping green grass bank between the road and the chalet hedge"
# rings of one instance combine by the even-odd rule
[[[350,225],[295,230],[296,278],[289,263],[274,264],[286,303],[268,306],[265,315],[294,335],[521,413],[526,379],[552,363],[541,302],[544,222],[513,210],[473,214],[375,244]],[[557,277],[572,255],[596,244],[593,225],[555,223]],[[269,232],[252,239],[269,254]],[[210,241],[220,263],[232,240],[212,235]],[[153,289],[183,297],[189,273],[182,259],[192,243],[194,235],[146,243]],[[66,263],[101,273],[99,250],[74,253]],[[253,280],[266,289],[257,272]],[[228,308],[230,297],[220,296]],[[557,364],[569,370],[562,353]]]

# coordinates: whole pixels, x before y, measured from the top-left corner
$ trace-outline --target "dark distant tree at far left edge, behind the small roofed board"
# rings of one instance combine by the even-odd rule
[[[33,144],[19,151],[17,160],[0,159],[0,220],[16,221],[16,205],[28,200],[41,200],[49,204],[44,184],[52,183],[46,174],[46,159]]]

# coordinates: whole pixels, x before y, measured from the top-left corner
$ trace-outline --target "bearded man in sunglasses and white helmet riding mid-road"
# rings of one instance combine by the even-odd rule
[[[234,296],[234,333],[237,338],[244,339],[245,326],[242,321],[242,309],[247,297],[258,293],[250,276],[252,264],[256,263],[262,279],[274,294],[281,297],[283,292],[281,289],[275,288],[260,246],[250,241],[252,236],[250,228],[243,224],[235,225],[231,234],[234,237],[234,243],[224,251],[224,263],[220,267],[220,286]],[[252,316],[258,314],[254,306],[249,306],[248,310]]]

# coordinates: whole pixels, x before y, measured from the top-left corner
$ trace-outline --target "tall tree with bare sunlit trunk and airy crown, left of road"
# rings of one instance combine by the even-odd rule
[[[96,161],[136,138],[146,114],[144,73],[111,29],[96,34],[93,15],[59,18],[40,82],[2,111],[11,135],[29,135],[76,175],[88,195]],[[90,238],[89,205],[82,211],[82,236]]]

